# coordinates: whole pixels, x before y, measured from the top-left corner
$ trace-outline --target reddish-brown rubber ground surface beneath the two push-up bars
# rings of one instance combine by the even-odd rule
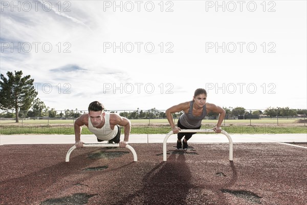
[[[162,144],[130,145],[137,162],[123,148],[76,149],[65,162],[72,145],[0,146],[0,204],[307,202],[304,148],[234,144],[231,162],[228,144],[189,144],[187,151],[167,144],[163,162]],[[85,170],[97,167],[102,169]],[[81,193],[87,196],[85,202],[69,198]]]

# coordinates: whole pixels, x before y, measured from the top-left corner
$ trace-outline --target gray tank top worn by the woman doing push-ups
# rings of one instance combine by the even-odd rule
[[[194,116],[192,111],[193,111],[193,105],[194,101],[190,101],[190,108],[188,113],[183,113],[179,120],[180,124],[183,125],[186,128],[198,128],[202,125],[202,120],[205,118],[207,115],[206,112],[206,104],[203,107],[203,113],[200,116]]]

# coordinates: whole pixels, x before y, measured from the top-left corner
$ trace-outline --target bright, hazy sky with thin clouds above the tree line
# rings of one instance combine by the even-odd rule
[[[307,107],[306,1],[1,1],[0,72],[55,110]]]

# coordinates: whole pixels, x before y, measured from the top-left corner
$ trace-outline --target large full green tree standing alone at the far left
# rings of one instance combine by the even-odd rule
[[[0,109],[15,109],[15,119],[18,122],[19,110],[29,110],[37,96],[33,86],[34,79],[30,75],[22,77],[23,71],[7,72],[6,78],[0,75]]]

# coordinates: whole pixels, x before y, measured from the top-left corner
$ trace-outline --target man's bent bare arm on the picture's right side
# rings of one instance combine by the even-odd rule
[[[119,142],[119,147],[123,148],[128,145],[129,135],[131,131],[131,122],[125,117],[121,117],[118,114],[110,114],[110,124],[119,125],[124,127],[124,140]]]

